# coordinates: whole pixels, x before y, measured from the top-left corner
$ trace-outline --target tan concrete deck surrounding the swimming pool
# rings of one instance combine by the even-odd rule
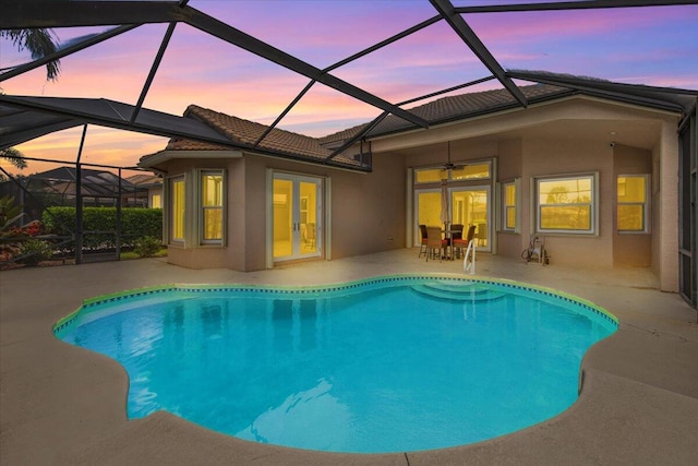
[[[262,445],[167,413],[129,421],[128,378],[106,357],[64,344],[51,327],[83,299],[171,283],[313,285],[396,273],[462,274],[414,250],[288,265],[192,271],[165,260],[0,273],[0,464],[9,465],[685,465],[698,458],[696,311],[660,292],[646,270],[540,266],[480,254],[478,276],[576,295],[621,321],[586,355],[575,405],[528,429],[471,445],[346,455]]]

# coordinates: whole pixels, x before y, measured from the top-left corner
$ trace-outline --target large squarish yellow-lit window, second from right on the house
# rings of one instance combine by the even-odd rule
[[[597,175],[537,178],[540,232],[595,234]]]

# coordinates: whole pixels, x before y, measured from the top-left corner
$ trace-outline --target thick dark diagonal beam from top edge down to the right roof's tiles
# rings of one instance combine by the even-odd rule
[[[450,25],[450,27],[458,34],[458,36],[466,43],[470,50],[480,59],[482,64],[488,67],[488,70],[496,76],[504,87],[516,98],[524,107],[528,105],[526,96],[519,89],[514,81],[512,81],[504,71],[504,68],[498,61],[490,53],[490,50],[482,44],[480,37],[468,26],[466,20],[464,20],[459,13],[456,13],[454,5],[448,0],[430,0],[432,5],[438,11],[444,20]]]

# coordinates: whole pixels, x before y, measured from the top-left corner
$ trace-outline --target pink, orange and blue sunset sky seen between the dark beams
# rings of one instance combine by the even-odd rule
[[[495,1],[454,1],[455,5],[492,3]],[[191,0],[189,5],[321,69],[436,14],[428,0]],[[505,69],[698,89],[698,5],[482,13],[464,19]],[[58,82],[46,82],[41,68],[4,81],[0,87],[9,95],[105,97],[135,104],[166,28],[164,24],[140,26],[65,57]],[[53,32],[65,44],[105,29]],[[0,39],[0,68],[29,60],[28,53]],[[442,21],[333,74],[399,103],[491,73]],[[268,124],[308,82],[304,76],[178,24],[144,106],[182,115],[188,105],[196,104]],[[493,87],[500,87],[497,81],[467,92]],[[380,112],[316,84],[280,128],[325,135],[369,121]],[[28,157],[74,160],[81,132],[61,131],[17,148]],[[163,150],[166,143],[165,138],[91,126],[82,160],[133,166],[141,156]],[[8,169],[4,162],[0,163]],[[53,167],[31,162],[24,174]]]

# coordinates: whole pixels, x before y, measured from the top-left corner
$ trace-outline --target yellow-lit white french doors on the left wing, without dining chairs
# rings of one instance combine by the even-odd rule
[[[322,253],[322,180],[274,174],[274,261],[320,256]]]

